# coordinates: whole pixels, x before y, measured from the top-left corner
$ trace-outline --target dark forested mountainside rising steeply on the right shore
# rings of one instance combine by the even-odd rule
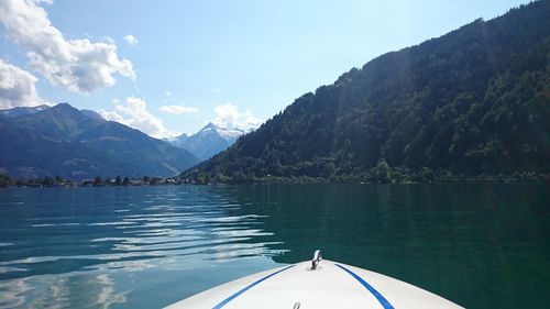
[[[407,180],[550,172],[550,1],[382,55],[182,176]],[[416,177],[416,176],[415,176]]]

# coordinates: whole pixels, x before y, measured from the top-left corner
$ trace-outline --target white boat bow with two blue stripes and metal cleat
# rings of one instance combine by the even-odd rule
[[[317,263],[314,258],[220,285],[167,308],[462,308],[398,279],[318,257]]]

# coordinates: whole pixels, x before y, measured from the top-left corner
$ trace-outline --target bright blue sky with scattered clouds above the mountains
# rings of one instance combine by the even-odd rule
[[[68,102],[155,137],[255,128],[353,67],[528,2],[1,0],[0,109]]]

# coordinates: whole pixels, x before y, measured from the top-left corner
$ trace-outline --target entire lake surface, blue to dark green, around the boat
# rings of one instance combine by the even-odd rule
[[[0,189],[0,308],[158,308],[315,249],[468,308],[548,308],[550,187]]]

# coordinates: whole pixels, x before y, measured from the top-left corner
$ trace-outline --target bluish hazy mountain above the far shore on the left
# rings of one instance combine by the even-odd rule
[[[0,115],[0,170],[25,178],[173,176],[198,163],[185,150],[67,103]]]

